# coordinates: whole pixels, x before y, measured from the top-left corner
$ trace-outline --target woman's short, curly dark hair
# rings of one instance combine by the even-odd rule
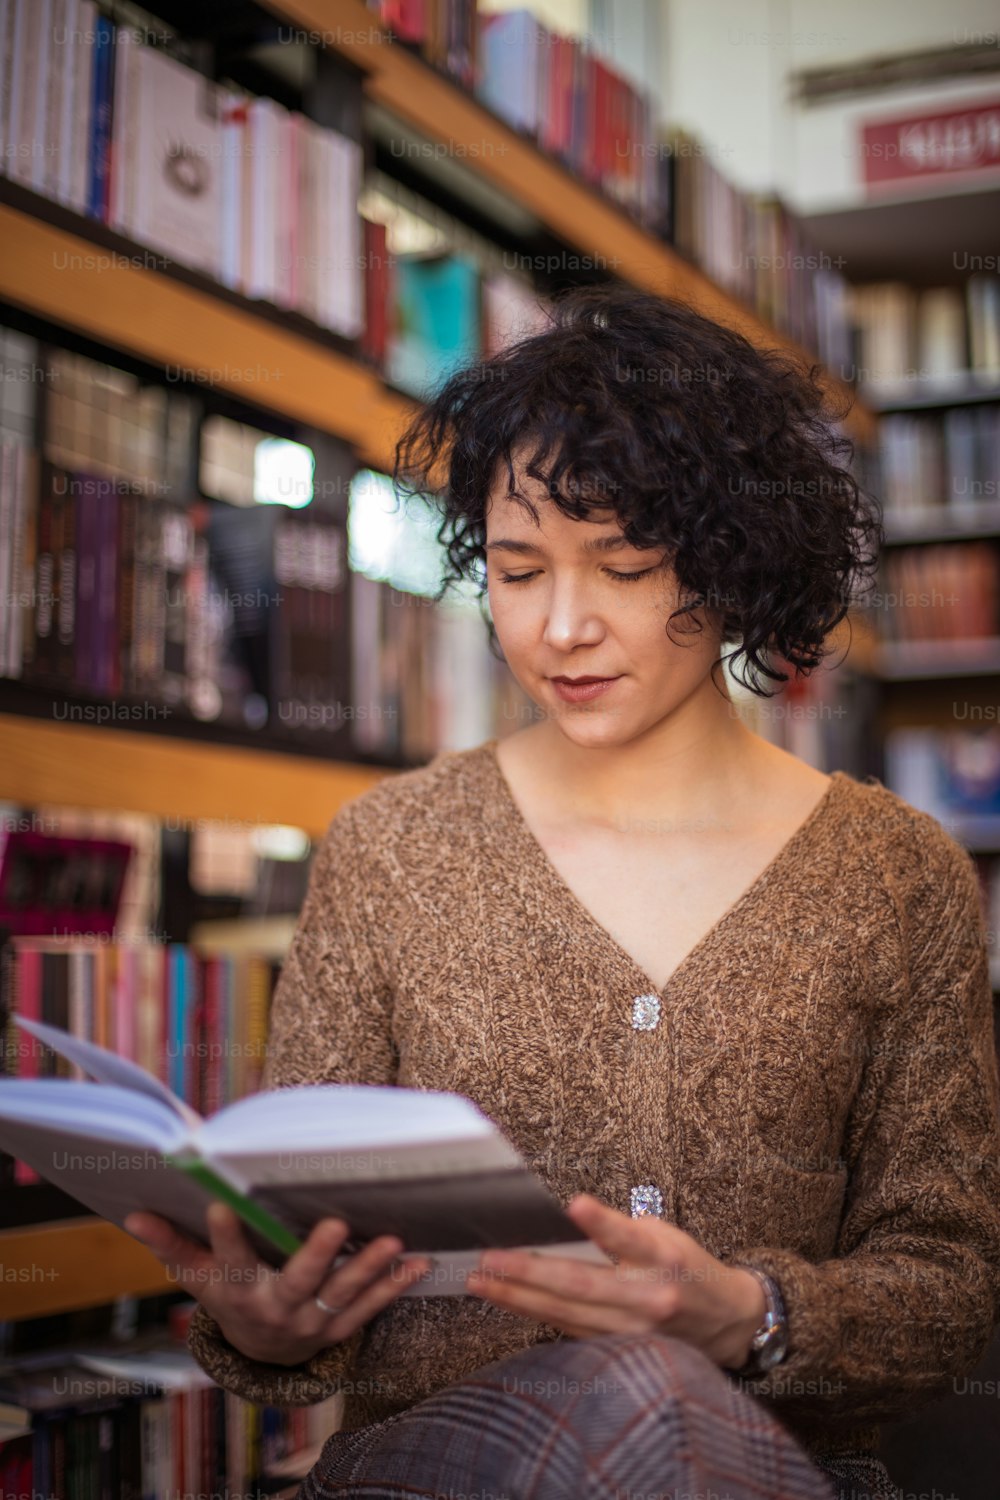
[[[879,501],[835,428],[847,410],[822,366],[760,350],[685,303],[573,286],[553,298],[547,327],[451,374],[417,411],[396,444],[393,486],[441,512],[448,568],[436,598],[478,585],[490,651],[486,508],[501,465],[537,518],[514,489],[517,448],[564,514],[613,507],[630,543],[666,548],[681,597],[691,596],[667,628],[706,610],[723,642],[739,642],[730,657],[747,658],[744,686],[771,698],[757,674],[786,682],[780,662],[796,674],[820,664],[885,544]]]

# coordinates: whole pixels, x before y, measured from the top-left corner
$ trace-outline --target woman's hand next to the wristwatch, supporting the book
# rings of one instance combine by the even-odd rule
[[[756,1276],[717,1260],[676,1224],[631,1218],[589,1192],[571,1198],[567,1214],[616,1264],[487,1250],[468,1290],[574,1338],[669,1334],[724,1370],[747,1362],[766,1311]]]

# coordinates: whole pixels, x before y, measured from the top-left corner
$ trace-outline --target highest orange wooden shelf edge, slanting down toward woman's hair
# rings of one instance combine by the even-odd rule
[[[327,46],[364,74],[364,93],[415,128],[450,146],[456,160],[475,164],[480,177],[528,208],[553,234],[607,266],[622,280],[738,328],[754,344],[805,354],[756,312],[717,286],[669,244],[648,234],[615,202],[574,177],[405,46],[385,40],[363,0],[264,0],[282,20],[322,36]],[[849,387],[829,376],[838,392]],[[876,436],[876,418],[856,400],[846,426],[858,441]]]

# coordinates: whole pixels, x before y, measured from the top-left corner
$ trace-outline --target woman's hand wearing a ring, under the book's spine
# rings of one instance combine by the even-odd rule
[[[349,1227],[328,1218],[274,1270],[258,1257],[241,1220],[225,1203],[210,1204],[207,1222],[211,1251],[156,1214],[129,1214],[124,1227],[201,1302],[234,1348],[268,1365],[300,1365],[343,1342],[432,1264],[424,1256],[393,1266],[403,1242],[381,1234],[331,1270]],[[340,1311],[324,1312],[316,1298]]]

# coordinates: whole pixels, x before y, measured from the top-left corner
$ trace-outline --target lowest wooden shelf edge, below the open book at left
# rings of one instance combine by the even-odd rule
[[[0,1266],[0,1322],[7,1323],[183,1290],[151,1250],[99,1218],[3,1230]]]

